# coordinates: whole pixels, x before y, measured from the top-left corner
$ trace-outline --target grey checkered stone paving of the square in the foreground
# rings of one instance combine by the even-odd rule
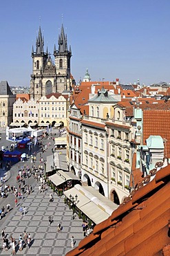
[[[64,203],[63,196],[54,194],[54,202],[50,203],[49,195],[53,193],[50,188],[39,193],[39,183],[34,191],[23,201],[19,201],[17,208],[12,210],[1,228],[4,228],[8,237],[12,235],[17,241],[24,230],[30,232],[32,245],[30,248],[17,250],[17,255],[65,255],[72,250],[70,237],[74,235],[76,245],[83,239],[82,220],[72,219],[72,210]],[[25,206],[27,212],[21,216],[19,208]],[[50,226],[48,217],[53,217]],[[3,219],[1,219],[2,221]],[[61,223],[62,231],[57,232],[57,224]],[[1,245],[3,241],[1,239]],[[1,251],[0,255],[11,255],[12,249]]]

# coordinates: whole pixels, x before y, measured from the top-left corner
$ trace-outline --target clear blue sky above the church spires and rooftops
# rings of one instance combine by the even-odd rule
[[[170,82],[169,0],[6,0],[0,10],[0,81],[10,86],[30,86],[39,25],[53,54],[62,15],[76,82],[86,68],[93,81]]]

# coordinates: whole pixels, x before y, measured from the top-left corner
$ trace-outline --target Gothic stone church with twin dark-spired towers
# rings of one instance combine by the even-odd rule
[[[44,51],[44,39],[39,27],[39,35],[36,37],[36,51],[32,46],[32,75],[30,94],[34,100],[50,93],[62,93],[70,90],[70,59],[72,57],[71,46],[67,48],[67,35],[64,33],[63,24],[61,35],[58,39],[59,48],[54,45],[55,64],[52,62],[48,50]]]

